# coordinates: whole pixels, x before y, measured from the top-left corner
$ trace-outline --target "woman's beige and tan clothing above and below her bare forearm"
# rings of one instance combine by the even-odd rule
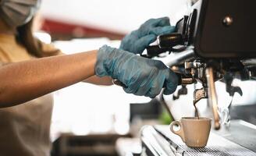
[[[0,62],[20,62],[31,58],[26,49],[16,43],[14,36],[0,34]],[[52,95],[48,94],[22,105],[1,108],[0,155],[49,155],[52,104]]]

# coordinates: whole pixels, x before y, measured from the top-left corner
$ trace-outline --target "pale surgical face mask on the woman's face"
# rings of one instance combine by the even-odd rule
[[[0,0],[0,16],[10,27],[29,22],[39,9],[41,0]]]

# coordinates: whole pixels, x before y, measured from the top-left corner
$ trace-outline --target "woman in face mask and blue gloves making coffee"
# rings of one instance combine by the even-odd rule
[[[140,53],[158,34],[172,31],[166,18],[148,20],[126,36],[120,47],[126,51],[103,46],[98,51],[54,56],[61,51],[32,34],[33,16],[39,5],[37,0],[1,2],[0,155],[49,155],[52,96],[48,93],[95,74],[112,76],[126,85],[127,93],[137,95],[154,97],[162,87],[166,87],[165,94],[176,89],[175,74],[162,62],[127,52]],[[12,105],[16,106],[3,108]]]

